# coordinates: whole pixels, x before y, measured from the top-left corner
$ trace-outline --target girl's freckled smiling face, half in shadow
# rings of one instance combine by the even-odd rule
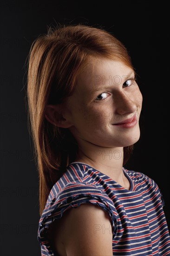
[[[65,118],[76,140],[107,148],[137,142],[142,94],[134,71],[120,61],[100,58],[77,81],[65,103]]]

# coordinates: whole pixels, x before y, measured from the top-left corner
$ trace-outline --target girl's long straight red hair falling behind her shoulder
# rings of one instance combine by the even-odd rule
[[[47,104],[59,104],[72,94],[80,67],[89,58],[118,59],[132,67],[124,45],[102,28],[85,25],[49,28],[40,35],[28,56],[27,100],[29,132],[39,170],[39,214],[52,186],[75,160],[78,145],[68,129],[52,125],[45,118]],[[133,146],[124,148],[124,164]]]

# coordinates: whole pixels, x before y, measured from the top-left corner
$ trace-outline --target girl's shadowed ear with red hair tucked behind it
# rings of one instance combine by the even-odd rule
[[[62,114],[63,106],[58,105],[47,105],[45,110],[46,120],[55,126],[61,128],[69,128],[72,126],[70,121],[67,121]]]

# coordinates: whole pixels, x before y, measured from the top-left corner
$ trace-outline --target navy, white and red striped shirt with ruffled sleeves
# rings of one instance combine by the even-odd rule
[[[39,220],[42,256],[56,256],[46,237],[49,224],[82,203],[98,205],[110,216],[114,256],[170,255],[170,234],[160,189],[143,173],[125,168],[123,172],[130,190],[85,163],[72,162],[66,168],[52,187]]]

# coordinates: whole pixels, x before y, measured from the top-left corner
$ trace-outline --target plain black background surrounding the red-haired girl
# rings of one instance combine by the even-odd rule
[[[40,256],[39,177],[27,128],[26,59],[47,26],[102,26],[127,47],[143,94],[141,137],[126,168],[159,185],[170,225],[169,8],[165,1],[0,2],[0,256]]]

